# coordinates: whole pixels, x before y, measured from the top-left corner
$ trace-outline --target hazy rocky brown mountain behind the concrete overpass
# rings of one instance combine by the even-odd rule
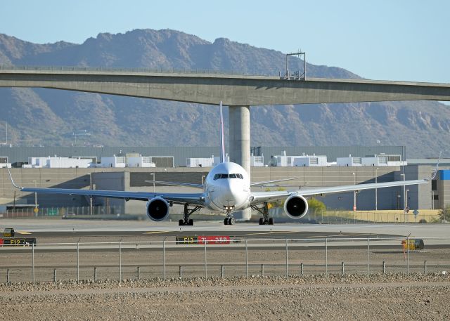
[[[213,43],[174,30],[98,34],[83,44],[32,44],[0,34],[0,64],[210,69],[277,75],[279,51],[229,39]],[[290,70],[302,60],[290,59]],[[307,65],[309,77],[358,78]],[[362,75],[364,76],[364,75]],[[411,79],[413,80],[413,79]],[[0,89],[0,141],[18,145],[217,145],[212,106],[51,89]],[[252,145],[406,145],[436,156],[450,145],[450,110],[437,102],[251,107]],[[225,119],[227,122],[227,119]]]

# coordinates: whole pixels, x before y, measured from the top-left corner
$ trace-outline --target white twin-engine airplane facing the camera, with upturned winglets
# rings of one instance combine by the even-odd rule
[[[259,218],[259,224],[274,224],[273,218],[269,218],[269,202],[278,199],[285,199],[284,211],[290,218],[302,218],[307,214],[308,202],[305,197],[314,195],[325,195],[337,192],[349,192],[368,190],[373,188],[390,188],[394,186],[416,185],[428,183],[429,179],[413,180],[413,181],[393,181],[387,183],[368,183],[359,185],[342,185],[333,187],[311,188],[308,190],[282,190],[270,192],[253,192],[252,186],[264,185],[268,183],[276,183],[288,181],[294,178],[288,178],[276,181],[264,181],[250,183],[250,177],[242,166],[233,162],[224,162],[224,120],[222,113],[222,105],[220,103],[220,121],[221,121],[221,162],[214,166],[210,173],[207,174],[203,185],[190,183],[173,183],[162,181],[150,181],[155,183],[165,183],[168,185],[190,186],[193,188],[201,188],[202,192],[197,193],[166,193],[166,192],[126,192],[119,190],[77,190],[63,188],[24,188],[15,185],[11,171],[9,176],[11,183],[15,188],[22,192],[37,192],[51,194],[66,195],[86,195],[98,197],[113,197],[125,199],[137,199],[146,201],[146,214],[150,220],[163,221],[169,216],[169,209],[173,204],[184,205],[184,218],[179,220],[179,225],[193,225],[193,219],[189,218],[195,211],[202,208],[210,209],[217,213],[225,213],[225,225],[234,225],[236,219],[233,212],[243,209],[254,209],[262,214]],[[437,173],[437,166],[433,177]]]

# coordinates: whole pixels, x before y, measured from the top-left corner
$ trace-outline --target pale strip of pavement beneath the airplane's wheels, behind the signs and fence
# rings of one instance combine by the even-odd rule
[[[324,238],[324,237],[416,237],[449,238],[449,224],[297,224],[278,223],[258,225],[253,222],[238,222],[224,225],[221,221],[195,222],[194,226],[179,226],[177,222],[165,221],[92,221],[60,219],[4,219],[0,230],[14,228],[16,236],[27,237],[110,237],[146,236],[174,237],[186,235],[229,235],[255,238]]]

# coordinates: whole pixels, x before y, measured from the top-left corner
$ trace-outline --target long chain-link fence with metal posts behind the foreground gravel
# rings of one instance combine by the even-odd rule
[[[0,282],[373,273],[442,273],[450,239],[77,242],[0,247]]]

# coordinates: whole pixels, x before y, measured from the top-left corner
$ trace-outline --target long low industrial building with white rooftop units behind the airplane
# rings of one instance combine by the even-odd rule
[[[11,149],[10,155],[6,150]],[[28,152],[36,152],[34,148],[29,148]],[[201,148],[200,150],[210,151],[214,148]],[[278,155],[280,162],[284,162],[285,154],[295,155],[298,150],[307,150],[307,148],[292,148],[283,152],[281,148],[274,148],[275,151],[281,150]],[[406,165],[404,161],[404,148],[381,148],[381,147],[345,147],[317,148],[316,154],[311,148],[311,155],[303,156],[303,152],[296,159],[290,159],[291,166],[268,166],[264,164],[262,155],[252,155],[252,162],[259,164],[251,167],[252,181],[269,181],[281,178],[295,178],[288,181],[288,185],[283,185],[287,190],[307,189],[313,187],[352,185],[354,183],[382,183],[387,181],[401,181],[421,178],[430,178],[434,164],[427,160],[418,161],[416,164]],[[137,150],[137,148],[136,148]],[[145,150],[145,149],[144,149]],[[262,154],[264,148],[256,150]],[[384,150],[384,151],[383,151]],[[153,183],[153,181],[169,181],[181,183],[203,183],[204,178],[210,170],[209,163],[215,157],[205,157],[207,162],[195,163],[195,157],[191,157],[191,164],[195,166],[174,166],[177,157],[186,155],[184,152],[178,152],[176,149],[167,148],[162,150],[165,155],[174,152],[176,156],[168,157],[143,157],[137,152],[120,151],[120,156],[113,158],[106,155],[98,155],[101,159],[98,167],[85,168],[82,166],[70,166],[67,168],[53,168],[52,166],[35,166],[34,168],[13,168],[12,174],[18,185],[40,188],[94,188],[98,190],[129,190],[129,191],[147,191],[153,192],[198,192],[187,187],[174,187]],[[195,148],[194,148],[195,151]],[[198,151],[198,150],[196,150]],[[23,162],[19,155],[23,153],[18,148],[0,148],[4,159],[11,162]],[[46,150],[48,153],[49,150]],[[72,150],[75,155],[75,151]],[[97,157],[89,148],[82,152],[76,150],[77,159]],[[105,152],[105,150],[103,150]],[[186,150],[185,150],[186,152]],[[307,150],[308,152],[308,150]],[[343,152],[349,154],[342,155]],[[375,152],[375,153],[373,153]],[[167,153],[167,154],[166,154]],[[383,154],[384,153],[384,154]],[[29,154],[30,155],[30,154]],[[27,155],[27,157],[29,156]],[[90,155],[90,156],[89,156]],[[92,156],[94,155],[94,156]],[[149,154],[146,154],[149,155]],[[155,154],[153,154],[155,155]],[[212,155],[212,154],[210,154]],[[277,154],[272,154],[277,155]],[[352,159],[349,159],[349,155]],[[342,156],[342,157],[341,157]],[[12,158],[10,158],[12,157]],[[347,157],[347,161],[346,158]],[[356,160],[359,157],[360,160]],[[46,157],[44,157],[46,159]],[[28,159],[28,158],[26,158]],[[278,157],[271,157],[271,161]],[[328,159],[334,161],[333,166],[320,166],[321,164],[330,164]],[[340,160],[342,159],[342,160]],[[215,160],[215,159],[214,159]],[[32,161],[33,162],[33,161]],[[42,160],[44,162],[44,160]],[[203,163],[202,163],[203,162]],[[36,163],[36,162],[35,162]],[[51,162],[44,162],[51,164]],[[42,164],[44,164],[42,163]],[[333,162],[332,162],[333,163]],[[341,166],[336,166],[338,163]],[[448,163],[448,164],[447,164]],[[41,160],[39,159],[39,164]],[[198,166],[202,164],[202,166]],[[277,163],[278,164],[278,163]],[[295,165],[297,164],[297,165]],[[450,165],[450,162],[444,162],[444,165]],[[264,165],[264,166],[262,166]],[[401,166],[404,165],[404,166]],[[364,190],[356,195],[356,209],[373,210],[377,209],[403,209],[407,204],[411,209],[439,209],[450,204],[450,173],[449,169],[442,167],[439,176],[431,184],[412,185],[406,190],[403,188],[380,188],[378,190]],[[15,190],[9,181],[6,169],[0,170],[0,204],[34,204],[34,195]],[[449,183],[447,183],[449,182]],[[271,188],[261,187],[261,190]],[[328,209],[352,210],[354,206],[353,192],[340,194],[323,195],[318,197]],[[406,202],[405,202],[406,199]],[[80,197],[73,195],[38,195],[37,204],[39,207],[88,207],[91,199],[89,197]],[[143,214],[145,211],[144,202],[132,201],[125,202],[122,199],[102,199],[96,197],[92,200],[95,206],[114,206],[116,211],[127,214]],[[375,205],[376,204],[376,205]],[[181,207],[174,207],[172,211],[181,212]]]

